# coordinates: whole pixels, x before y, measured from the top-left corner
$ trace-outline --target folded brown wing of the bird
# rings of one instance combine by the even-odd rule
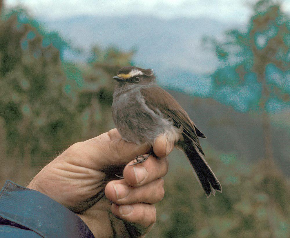
[[[191,121],[186,111],[184,111],[179,103],[168,92],[155,86],[141,89],[141,94],[145,99],[146,105],[151,110],[157,114],[158,111],[162,112],[166,118],[172,118],[174,126],[177,128],[182,127],[183,134],[189,137],[204,155],[197,138],[193,121]]]

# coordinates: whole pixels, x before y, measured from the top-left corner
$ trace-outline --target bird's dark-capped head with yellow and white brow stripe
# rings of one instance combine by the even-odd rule
[[[135,66],[122,67],[117,72],[117,76],[113,79],[117,80],[120,84],[146,84],[155,80],[152,69],[142,69]]]

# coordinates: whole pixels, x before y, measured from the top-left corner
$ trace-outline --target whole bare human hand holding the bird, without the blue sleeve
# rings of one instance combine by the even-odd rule
[[[153,150],[161,159],[150,156],[130,166],[150,147],[128,143],[113,129],[70,146],[28,188],[76,212],[96,237],[144,237],[156,220],[153,204],[164,196],[161,177],[168,170],[165,157],[173,146],[160,136]],[[122,175],[123,169],[124,179],[117,179],[115,174]]]

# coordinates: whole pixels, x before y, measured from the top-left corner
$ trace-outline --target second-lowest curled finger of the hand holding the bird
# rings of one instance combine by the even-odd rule
[[[125,179],[110,181],[105,188],[106,197],[114,204],[134,204],[149,203],[154,204],[161,201],[164,197],[164,180],[145,184],[141,187],[131,187],[125,182]]]

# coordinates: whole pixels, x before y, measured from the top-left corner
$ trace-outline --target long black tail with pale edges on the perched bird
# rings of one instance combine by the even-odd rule
[[[211,193],[215,195],[215,190],[222,192],[222,186],[220,185],[220,182],[215,177],[215,174],[206,163],[202,154],[198,151],[197,148],[195,148],[195,146],[193,146],[192,141],[191,143],[184,143],[182,147],[189,159],[189,162],[191,163],[191,166],[193,167],[195,177],[206,193],[206,196],[209,197]]]

